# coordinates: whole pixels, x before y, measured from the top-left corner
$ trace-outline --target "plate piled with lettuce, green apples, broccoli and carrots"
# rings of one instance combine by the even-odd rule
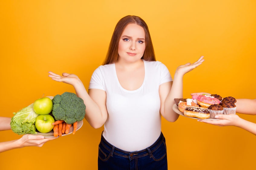
[[[38,100],[41,100],[40,107],[34,107]],[[14,113],[10,123],[14,133],[51,138],[75,134],[82,127],[86,106],[76,94],[64,92],[38,100]]]

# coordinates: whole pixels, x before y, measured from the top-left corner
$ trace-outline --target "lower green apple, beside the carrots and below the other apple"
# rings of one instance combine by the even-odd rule
[[[35,126],[37,130],[41,133],[48,133],[53,129],[52,123],[55,122],[53,116],[47,115],[39,115],[36,118]]]

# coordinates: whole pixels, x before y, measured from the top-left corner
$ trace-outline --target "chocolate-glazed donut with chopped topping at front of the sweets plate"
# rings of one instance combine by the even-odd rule
[[[210,112],[205,107],[186,107],[184,110],[184,115],[199,119],[208,119],[210,117]]]

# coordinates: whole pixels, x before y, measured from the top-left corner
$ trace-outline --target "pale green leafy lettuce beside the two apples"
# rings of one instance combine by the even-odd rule
[[[38,116],[31,104],[24,107],[11,118],[11,130],[17,134],[36,134],[35,120]]]

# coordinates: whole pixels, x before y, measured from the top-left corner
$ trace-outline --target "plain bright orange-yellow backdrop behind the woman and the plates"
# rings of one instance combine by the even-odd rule
[[[254,0],[9,0],[0,5],[0,116],[12,117],[43,95],[74,92],[51,80],[48,71],[77,74],[87,89],[115,24],[126,15],[146,21],[157,60],[172,76],[177,66],[205,56],[184,76],[184,98],[201,91],[255,98]],[[256,116],[239,116],[256,123]],[[84,121],[75,135],[0,153],[0,169],[97,169],[102,130]],[[255,167],[255,136],[243,129],[180,116],[174,123],[163,120],[162,131],[170,169]],[[0,132],[0,142],[20,137]]]

